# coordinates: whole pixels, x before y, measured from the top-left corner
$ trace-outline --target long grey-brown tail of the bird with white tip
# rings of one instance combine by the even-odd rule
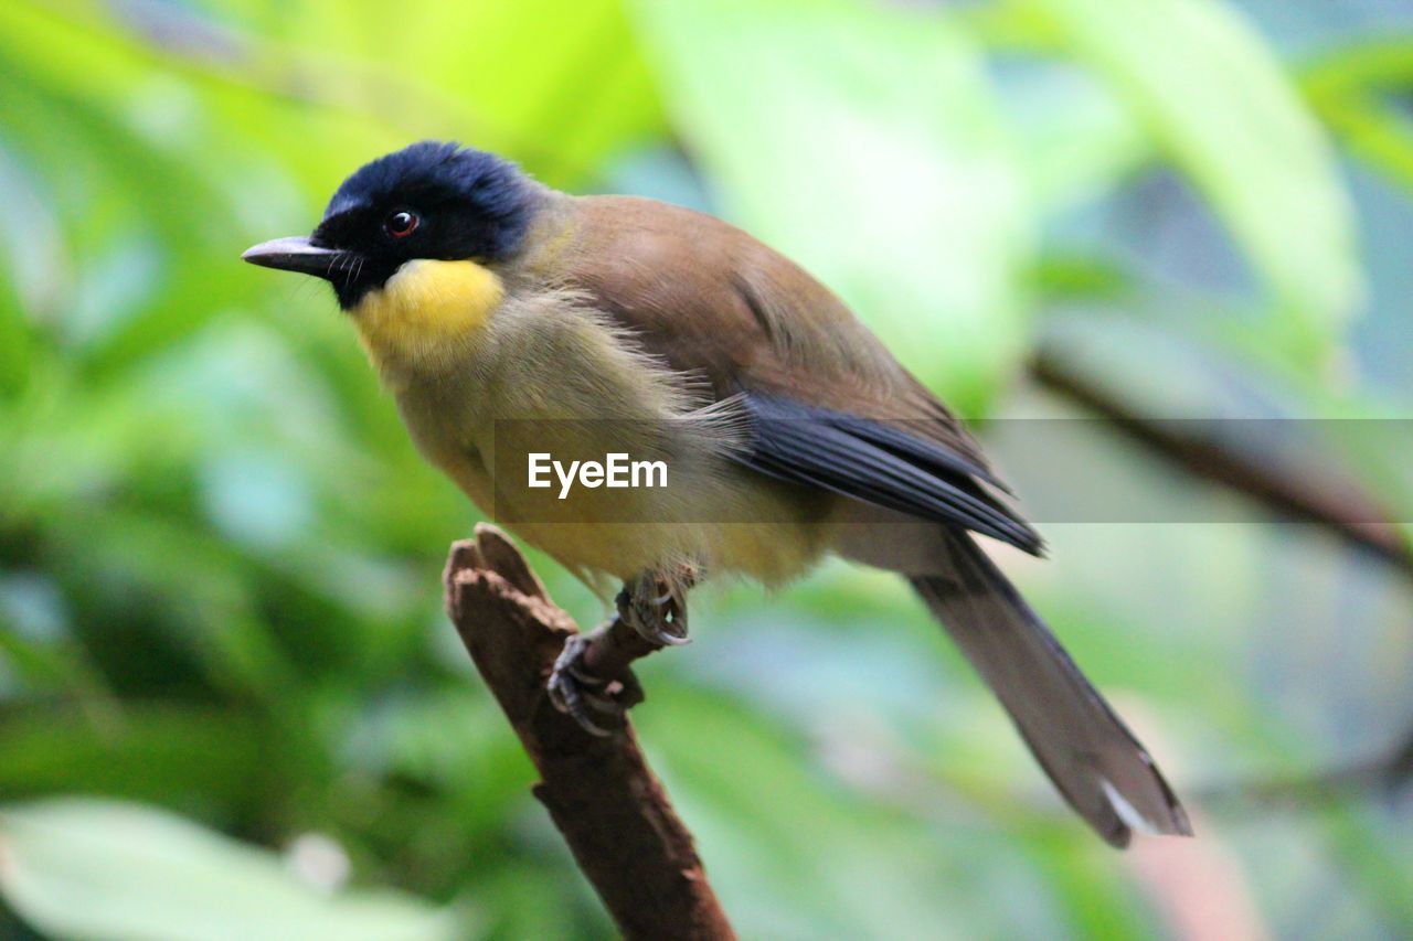
[[[909,581],[1070,805],[1115,846],[1133,829],[1190,836],[1187,812],[1147,750],[1044,622],[968,534],[944,533],[951,572]]]

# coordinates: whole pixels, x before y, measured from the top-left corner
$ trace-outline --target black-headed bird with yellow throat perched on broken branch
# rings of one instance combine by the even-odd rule
[[[650,640],[685,637],[704,576],[780,584],[828,552],[900,572],[1101,836],[1191,832],[978,547],[1041,548],[978,444],[828,288],[745,232],[420,143],[349,177],[311,237],[243,257],[331,281],[421,452],[569,569],[623,579],[620,616]],[[530,454],[660,459],[667,486],[530,487]],[[552,692],[593,728],[572,654]]]

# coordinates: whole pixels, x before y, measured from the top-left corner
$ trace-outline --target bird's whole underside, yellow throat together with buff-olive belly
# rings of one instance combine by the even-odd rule
[[[682,422],[687,381],[588,298],[506,298],[471,261],[413,261],[353,311],[414,441],[480,509],[581,574],[620,579],[691,562],[787,579],[827,544],[824,507],[728,459]],[[673,455],[663,489],[530,489],[527,454]],[[770,520],[770,523],[753,523]]]

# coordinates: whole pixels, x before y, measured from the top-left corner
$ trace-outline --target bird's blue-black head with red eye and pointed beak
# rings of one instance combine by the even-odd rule
[[[538,188],[495,154],[422,141],[360,167],[329,199],[309,237],[263,242],[242,257],[333,285],[345,311],[408,261],[496,266],[516,254]]]

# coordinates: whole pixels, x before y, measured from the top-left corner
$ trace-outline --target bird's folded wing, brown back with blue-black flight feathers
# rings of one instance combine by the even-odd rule
[[[828,288],[745,232],[629,196],[575,201],[577,287],[716,398],[745,394],[777,478],[993,535],[1040,540],[961,422]]]

